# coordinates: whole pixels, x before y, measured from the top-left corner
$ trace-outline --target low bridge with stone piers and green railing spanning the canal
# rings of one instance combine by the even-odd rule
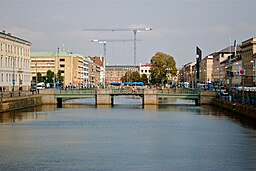
[[[96,105],[114,105],[115,96],[139,96],[142,105],[157,105],[161,98],[181,98],[195,101],[195,105],[208,104],[215,97],[190,89],[97,89],[97,90],[43,90],[42,101],[46,104],[62,106],[63,99],[95,98]]]

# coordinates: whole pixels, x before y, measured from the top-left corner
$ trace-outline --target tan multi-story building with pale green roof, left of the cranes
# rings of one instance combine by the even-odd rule
[[[36,77],[37,73],[46,76],[47,71],[51,70],[55,75],[61,73],[63,86],[84,86],[85,71],[88,70],[88,64],[84,61],[85,57],[71,52],[31,52],[32,77]],[[56,76],[56,82],[58,81]]]

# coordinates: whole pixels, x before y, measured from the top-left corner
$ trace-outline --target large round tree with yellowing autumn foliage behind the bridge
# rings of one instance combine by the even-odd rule
[[[151,58],[151,83],[166,83],[167,75],[171,74],[175,76],[177,74],[176,62],[174,58],[163,52],[157,52],[155,56]]]

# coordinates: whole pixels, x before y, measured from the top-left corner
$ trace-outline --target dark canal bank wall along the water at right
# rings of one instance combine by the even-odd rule
[[[256,106],[243,105],[233,101],[226,101],[218,98],[215,98],[212,104],[226,109],[236,115],[256,120]]]

